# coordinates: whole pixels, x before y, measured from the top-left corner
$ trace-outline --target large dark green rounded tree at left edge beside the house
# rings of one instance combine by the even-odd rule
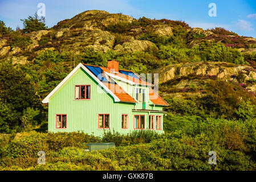
[[[9,133],[21,126],[24,111],[39,103],[35,91],[22,69],[11,63],[0,64],[0,132]]]

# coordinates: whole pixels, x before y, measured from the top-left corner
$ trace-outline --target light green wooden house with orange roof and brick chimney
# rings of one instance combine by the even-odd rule
[[[163,133],[163,106],[168,104],[132,71],[80,63],[44,100],[48,131],[83,131],[100,136],[104,130],[125,134],[150,129]]]

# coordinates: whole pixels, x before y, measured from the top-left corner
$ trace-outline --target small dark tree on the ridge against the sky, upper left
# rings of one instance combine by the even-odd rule
[[[44,17],[38,19],[38,15],[35,13],[34,17],[29,16],[27,19],[21,19],[23,22],[23,32],[29,33],[32,31],[46,30],[48,27],[44,23]]]

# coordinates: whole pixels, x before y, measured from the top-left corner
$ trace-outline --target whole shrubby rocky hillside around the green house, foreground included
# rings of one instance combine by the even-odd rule
[[[39,29],[12,31],[0,21],[0,170],[256,169],[255,38],[99,10]],[[159,73],[165,133],[48,133],[43,98],[78,63],[106,67],[109,59]],[[117,147],[84,152],[95,142]]]

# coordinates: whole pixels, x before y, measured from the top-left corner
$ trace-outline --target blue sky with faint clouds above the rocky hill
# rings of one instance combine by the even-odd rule
[[[21,19],[43,12],[39,3],[45,5],[49,28],[83,11],[105,10],[136,19],[145,16],[182,20],[190,27],[224,27],[239,35],[256,38],[256,0],[0,0],[0,20],[14,30],[17,26],[22,28]],[[214,6],[209,6],[211,3]]]

